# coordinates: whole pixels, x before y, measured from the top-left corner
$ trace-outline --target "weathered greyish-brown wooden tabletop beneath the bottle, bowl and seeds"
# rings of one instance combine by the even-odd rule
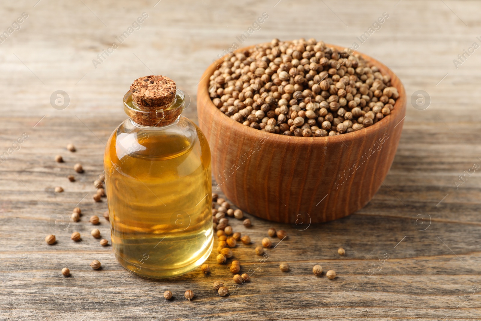
[[[22,133],[28,139],[0,165],[1,320],[481,320],[479,170],[456,189],[458,175],[481,165],[481,49],[457,68],[453,63],[473,42],[481,44],[481,2],[157,1],[2,3],[1,32],[21,13],[28,18],[0,44],[0,154]],[[141,28],[95,68],[96,55],[143,12],[149,16]],[[240,44],[236,37],[263,12],[269,17],[260,30]],[[175,79],[190,94],[185,114],[196,121],[196,84],[233,42],[315,37],[350,46],[383,12],[389,18],[358,50],[402,79],[408,108],[391,171],[365,208],[307,229],[308,218],[297,226],[252,218],[251,229],[234,220],[234,230],[255,243],[238,245],[235,257],[244,271],[255,263],[258,271],[227,298],[211,287],[218,280],[233,284],[215,256],[209,276],[195,270],[149,281],[130,276],[111,248],[89,235],[89,216],[106,209],[105,201],[92,201],[92,181],[102,170],[105,142],[126,118],[121,101],[132,80]],[[52,108],[55,90],[68,93],[66,109]],[[429,108],[409,103],[417,90],[429,93]],[[69,142],[76,153],[66,151]],[[55,163],[56,154],[65,163]],[[76,162],[85,173],[71,183],[66,176]],[[54,193],[55,186],[65,192]],[[54,219],[78,202],[81,221],[58,231],[63,227]],[[289,239],[260,264],[253,248],[271,226]],[[99,229],[110,242],[103,218]],[[82,242],[69,239],[73,231]],[[43,240],[51,233],[58,240],[53,246]],[[345,257],[336,255],[339,246]],[[388,256],[380,269],[374,266]],[[95,258],[101,270],[90,269]],[[282,261],[289,272],[279,270]],[[336,270],[338,278],[315,277],[315,264]],[[63,267],[70,278],[60,274]],[[162,297],[166,289],[172,301]],[[187,289],[195,293],[190,302]]]

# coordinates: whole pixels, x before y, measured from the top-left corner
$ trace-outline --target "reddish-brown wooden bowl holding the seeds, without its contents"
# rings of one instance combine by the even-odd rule
[[[391,76],[399,98],[376,124],[330,137],[284,136],[236,122],[208,93],[209,78],[223,60],[207,68],[197,91],[199,125],[211,147],[214,178],[230,201],[259,218],[307,226],[345,217],[371,200],[394,159],[406,97],[388,67],[362,57]]]

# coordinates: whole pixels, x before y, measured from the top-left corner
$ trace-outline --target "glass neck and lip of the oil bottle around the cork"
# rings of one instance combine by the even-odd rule
[[[179,89],[171,103],[154,108],[135,103],[130,90],[124,95],[124,111],[135,126],[159,128],[175,124],[184,109],[185,96]]]

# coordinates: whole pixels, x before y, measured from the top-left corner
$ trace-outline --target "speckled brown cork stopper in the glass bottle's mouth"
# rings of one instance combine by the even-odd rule
[[[132,100],[141,110],[156,110],[172,103],[176,96],[176,83],[165,76],[145,76],[130,85]]]

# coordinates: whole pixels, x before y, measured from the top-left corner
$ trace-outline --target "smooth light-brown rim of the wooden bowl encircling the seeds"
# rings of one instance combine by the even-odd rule
[[[266,42],[266,43],[269,43],[269,42]],[[239,48],[239,49],[233,51],[233,53],[240,52],[240,51],[247,51],[251,48],[254,48],[255,46],[263,45],[263,44],[266,44],[266,43],[260,43],[260,44],[255,44],[255,45],[252,45],[252,46]],[[330,48],[335,48],[339,51],[343,51],[343,50],[346,49],[342,46],[332,45],[332,44],[328,44],[328,43],[325,43],[325,45],[327,47],[330,47]],[[312,136],[311,137],[287,136],[287,135],[282,135],[282,134],[277,134],[277,133],[270,133],[270,132],[260,130],[260,129],[255,129],[255,128],[252,128],[250,126],[245,126],[245,125],[242,125],[241,123],[235,121],[234,119],[226,116],[224,113],[222,113],[219,110],[219,108],[217,108],[214,105],[214,103],[212,102],[212,99],[209,96],[208,90],[209,90],[210,76],[212,76],[214,74],[214,71],[217,69],[217,65],[222,64],[225,61],[225,58],[228,55],[225,55],[225,56],[215,60],[204,71],[204,73],[202,75],[202,78],[199,81],[199,86],[198,86],[198,90],[197,90],[198,91],[198,99],[200,100],[201,98],[206,98],[205,100],[208,102],[207,108],[215,109],[214,113],[217,112],[217,113],[219,113],[219,116],[222,115],[223,117],[226,117],[227,121],[231,121],[233,123],[231,125],[231,126],[233,126],[233,128],[241,131],[243,135],[248,136],[248,137],[255,136],[257,138],[260,135],[266,135],[267,134],[268,139],[266,139],[266,140],[268,140],[268,141],[277,141],[277,142],[286,143],[286,144],[296,143],[296,144],[300,144],[300,145],[312,145],[313,143],[325,143],[325,144],[345,143],[347,141],[355,141],[357,138],[361,138],[361,137],[364,137],[364,136],[368,136],[369,134],[375,134],[376,132],[379,132],[380,128],[381,128],[380,126],[382,126],[384,124],[385,124],[386,127],[389,127],[390,125],[392,125],[392,123],[395,120],[398,119],[399,113],[405,114],[405,95],[406,95],[406,93],[405,93],[405,88],[402,84],[401,79],[399,77],[397,77],[388,66],[386,66],[385,64],[381,63],[380,61],[372,58],[371,56],[368,56],[368,55],[363,54],[361,52],[353,51],[352,54],[359,54],[364,60],[374,64],[375,66],[377,66],[380,69],[382,74],[384,74],[384,75],[388,74],[389,76],[391,76],[391,86],[395,87],[398,90],[399,97],[398,97],[398,99],[396,99],[396,103],[394,103],[394,106],[393,106],[394,108],[392,109],[392,112],[389,114],[389,117],[383,117],[380,121],[376,122],[376,124],[374,124],[374,125],[371,125],[367,128],[356,130],[356,131],[353,131],[353,132],[350,132],[350,133],[345,133],[345,134],[336,135],[336,136],[323,136],[323,137],[317,137],[317,136],[314,136],[314,137],[312,137]],[[394,85],[393,82],[396,83],[396,85]],[[197,109],[199,109],[199,105],[201,105],[201,104],[199,104],[199,103],[197,104]],[[201,107],[201,108],[203,108],[203,107]],[[401,120],[399,120],[398,123],[394,127],[399,125],[404,120],[404,118],[405,118],[405,116]],[[387,119],[387,121],[384,121],[385,119]]]

